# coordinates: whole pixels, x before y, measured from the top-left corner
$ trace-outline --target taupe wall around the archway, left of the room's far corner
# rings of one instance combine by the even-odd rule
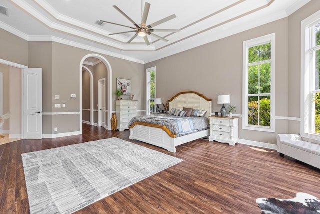
[[[26,42],[0,29],[0,44],[7,52],[0,52],[0,59],[26,65],[29,68],[42,68],[42,134],[59,134],[79,131],[79,115],[54,115],[55,112],[81,112],[79,109],[80,61],[92,53],[55,42]],[[130,79],[135,99],[144,103],[143,65],[108,55],[104,57],[112,69],[112,91],[116,89],[116,78]],[[106,79],[107,80],[107,79]],[[76,98],[70,98],[76,94]],[[60,99],[55,100],[54,95]],[[112,111],[115,111],[116,95],[112,93]],[[54,103],[64,103],[65,108],[54,108]],[[141,109],[144,104],[138,104]],[[53,114],[52,114],[53,113]],[[58,131],[54,132],[54,127]]]

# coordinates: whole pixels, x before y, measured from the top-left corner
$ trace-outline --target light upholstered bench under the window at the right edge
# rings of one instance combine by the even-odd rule
[[[320,144],[302,140],[299,134],[277,134],[276,151],[320,168]]]

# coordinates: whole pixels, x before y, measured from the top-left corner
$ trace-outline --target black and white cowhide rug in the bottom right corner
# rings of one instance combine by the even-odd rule
[[[302,214],[320,213],[320,200],[313,195],[297,192],[291,199],[257,198],[261,214]]]

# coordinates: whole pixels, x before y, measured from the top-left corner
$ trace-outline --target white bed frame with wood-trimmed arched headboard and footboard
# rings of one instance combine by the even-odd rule
[[[168,109],[193,108],[194,110],[204,110],[203,118],[208,121],[208,117],[211,116],[211,101],[212,99],[194,91],[180,92],[168,100]],[[150,117],[154,118],[152,115]],[[130,130],[129,139],[152,144],[170,152],[175,152],[175,147],[178,145],[209,135],[208,127],[200,131],[179,134],[172,133],[170,128],[165,125],[135,121],[135,119],[135,117],[132,118],[128,124]]]

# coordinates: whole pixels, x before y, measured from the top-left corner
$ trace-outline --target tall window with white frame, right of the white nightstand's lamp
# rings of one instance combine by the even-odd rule
[[[274,38],[243,42],[243,129],[274,132]]]

